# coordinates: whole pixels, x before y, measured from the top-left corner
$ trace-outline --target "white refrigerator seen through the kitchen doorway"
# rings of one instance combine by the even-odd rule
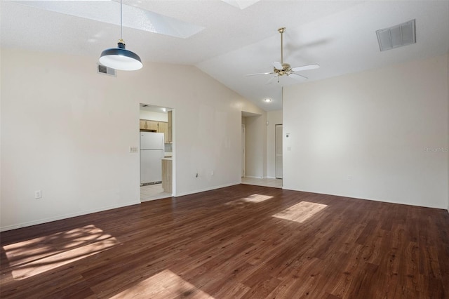
[[[162,182],[163,133],[140,132],[140,185]]]

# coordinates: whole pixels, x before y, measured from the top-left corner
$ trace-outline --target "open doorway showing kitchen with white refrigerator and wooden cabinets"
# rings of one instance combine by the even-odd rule
[[[172,197],[174,178],[174,110],[140,104],[140,201]]]

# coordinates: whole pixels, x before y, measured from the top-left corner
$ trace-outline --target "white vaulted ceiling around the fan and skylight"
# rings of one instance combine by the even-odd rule
[[[143,21],[142,29],[133,29],[125,27],[126,18],[135,18],[135,15],[128,16],[123,9],[126,47],[140,55],[144,67],[145,61],[196,65],[267,111],[281,109],[282,86],[302,82],[281,77],[279,84],[274,81],[267,85],[269,75],[245,77],[245,74],[272,72],[271,62],[280,60],[279,27],[287,28],[284,62],[292,67],[321,65],[320,69],[301,72],[309,77],[307,81],[449,51],[447,0],[227,2],[123,0],[124,6],[142,8],[200,28],[198,33],[185,39],[145,31],[144,27],[151,26]],[[92,14],[94,6],[104,14],[111,13],[109,1],[69,3],[78,14],[81,10],[81,15],[83,9],[86,15]],[[2,47],[96,58],[105,48],[115,47],[120,37],[119,15],[114,25],[25,4],[25,1],[1,1]],[[380,52],[375,31],[411,19],[416,19],[417,43]],[[267,97],[273,101],[263,102]]]

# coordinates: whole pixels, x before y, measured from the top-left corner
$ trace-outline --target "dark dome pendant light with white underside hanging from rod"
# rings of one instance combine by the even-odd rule
[[[120,0],[120,39],[117,48],[109,48],[102,51],[100,55],[100,63],[106,67],[119,69],[122,71],[135,71],[142,68],[142,60],[139,55],[125,48],[125,41],[122,39],[123,25],[122,25],[122,8]]]

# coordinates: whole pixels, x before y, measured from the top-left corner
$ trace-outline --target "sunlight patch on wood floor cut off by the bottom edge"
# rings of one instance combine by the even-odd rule
[[[163,270],[111,298],[214,299],[170,270]]]

